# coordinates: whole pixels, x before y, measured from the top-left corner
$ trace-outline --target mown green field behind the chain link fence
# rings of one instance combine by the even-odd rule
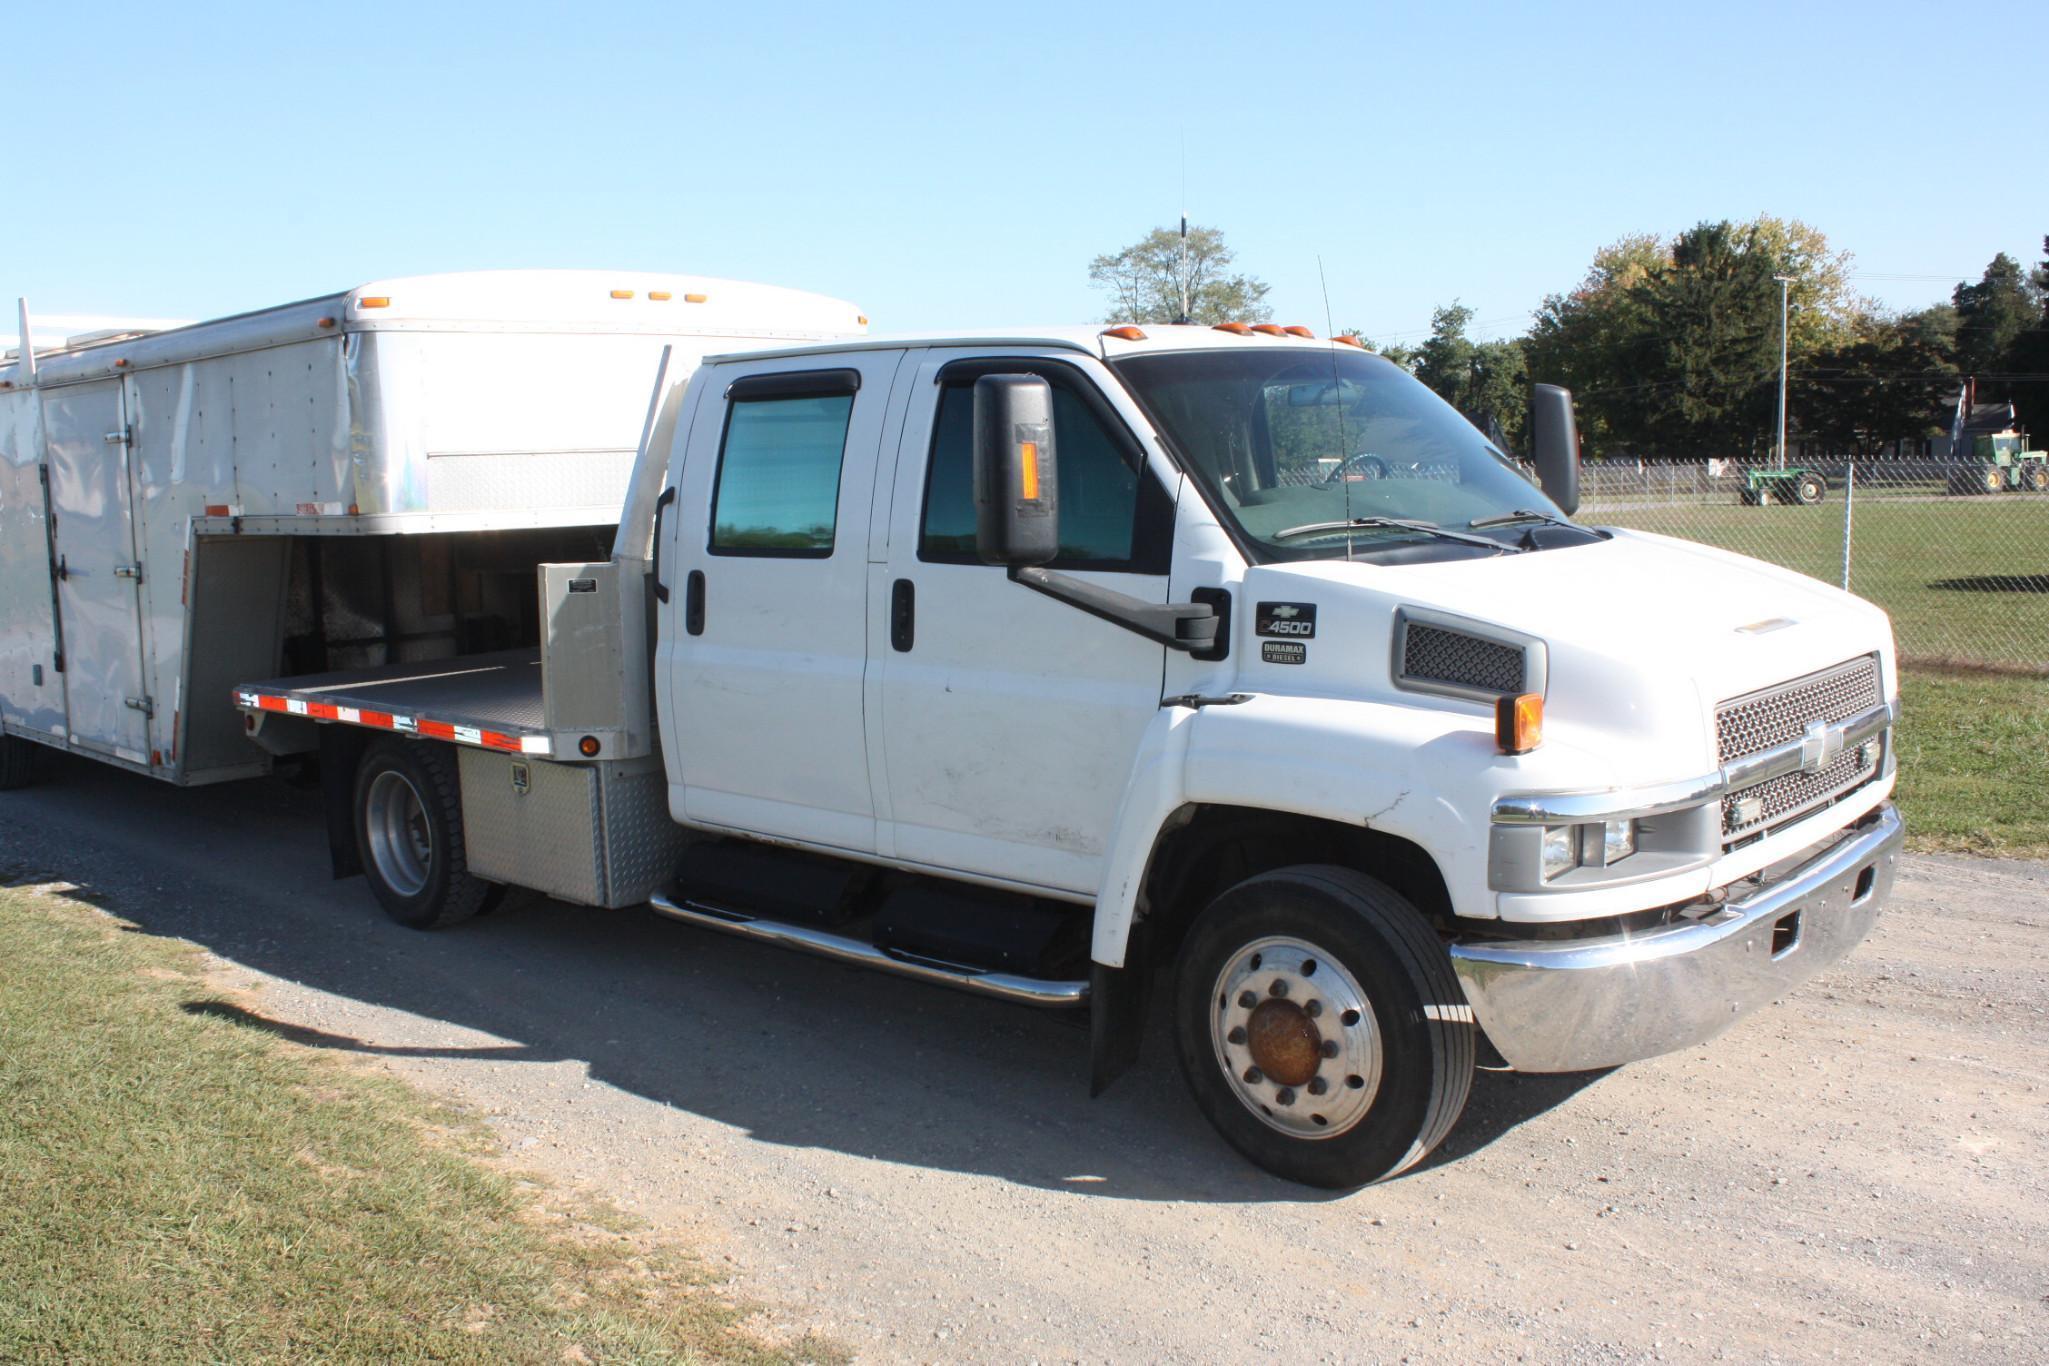
[[[1705,541],[1842,582],[1842,489],[1815,508],[1590,504],[1582,520]],[[1871,498],[1850,592],[1893,616],[1908,659],[2049,672],[2049,498]]]

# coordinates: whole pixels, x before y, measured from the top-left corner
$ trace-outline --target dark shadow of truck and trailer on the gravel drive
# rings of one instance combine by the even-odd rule
[[[176,791],[90,764],[0,797],[8,862],[78,883],[150,934],[309,989],[477,1030],[363,1020],[344,1004],[275,1018],[262,993],[195,1001],[293,1042],[494,1069],[578,1061],[592,1081],[762,1143],[969,1171],[1098,1198],[1338,1198],[1270,1178],[1209,1128],[1156,999],[1143,1055],[1088,1098],[1080,1012],[1037,1012],[678,926],[533,895],[436,934],[389,922],[361,881],[326,877],[318,795],[281,782]],[[1477,1153],[1602,1073],[1481,1073],[1418,1171]],[[545,1085],[494,1079],[518,1112]],[[584,1141],[582,1135],[563,1135]]]

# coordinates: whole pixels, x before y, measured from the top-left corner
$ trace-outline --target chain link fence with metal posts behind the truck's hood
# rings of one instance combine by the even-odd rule
[[[2049,463],[1590,461],[1578,520],[1799,569],[1883,606],[1908,664],[2049,676]]]

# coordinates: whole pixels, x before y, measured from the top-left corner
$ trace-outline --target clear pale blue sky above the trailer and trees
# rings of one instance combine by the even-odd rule
[[[0,297],[205,317],[619,266],[885,330],[1086,322],[1088,260],[1186,201],[1318,332],[1318,258],[1340,326],[1457,297],[1512,334],[1600,244],[1758,211],[1912,307],[2041,256],[2008,137],[2041,121],[1994,90],[2049,100],[2045,37],[2039,0],[16,6]]]

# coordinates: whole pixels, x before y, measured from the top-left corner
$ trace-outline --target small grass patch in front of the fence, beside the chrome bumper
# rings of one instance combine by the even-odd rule
[[[1908,670],[1899,702],[1908,846],[2049,858],[2049,680]]]

